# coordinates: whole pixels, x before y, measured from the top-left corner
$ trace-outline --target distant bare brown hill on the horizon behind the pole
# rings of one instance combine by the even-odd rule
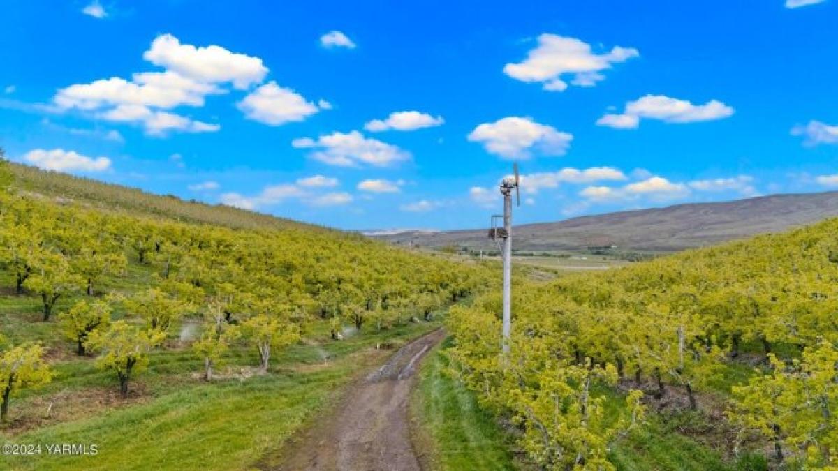
[[[749,235],[787,230],[838,215],[838,192],[774,194],[722,203],[582,216],[515,227],[516,250],[579,250],[617,246],[633,251],[680,251]],[[494,249],[486,230],[405,231],[377,235],[396,244]]]

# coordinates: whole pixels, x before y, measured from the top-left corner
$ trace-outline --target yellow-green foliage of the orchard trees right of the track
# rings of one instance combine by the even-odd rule
[[[838,220],[829,220],[623,269],[541,285],[519,282],[510,357],[499,353],[497,295],[453,309],[454,355],[484,401],[520,419],[524,446],[534,458],[565,468],[572,457],[573,465],[598,468],[608,444],[620,436],[614,431],[627,428],[620,422],[631,421],[579,421],[569,406],[574,402],[561,402],[568,401],[566,391],[578,392],[584,384],[573,374],[577,368],[652,380],[659,395],[667,387],[682,388],[696,407],[696,391],[720,380],[742,345],[759,345],[763,355],[802,351],[801,363],[775,363],[773,373],[737,390],[737,423],[776,438],[789,460],[825,467],[838,444],[838,423],[831,418],[838,414],[836,365],[831,357],[824,360],[838,346],[835,233]],[[613,379],[600,374],[592,381],[606,387]],[[604,394],[603,387],[592,389],[593,399]],[[788,402],[773,413],[760,406],[769,402],[770,388]],[[551,416],[538,412],[548,409],[545,397],[557,401]],[[541,409],[522,409],[527,401]],[[551,433],[548,423],[561,434]],[[569,432],[583,438],[568,442],[563,434]]]

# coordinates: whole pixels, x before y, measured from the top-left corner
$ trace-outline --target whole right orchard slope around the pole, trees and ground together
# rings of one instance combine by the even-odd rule
[[[452,309],[448,355],[546,469],[835,470],[836,230],[522,281],[510,358],[497,292]]]

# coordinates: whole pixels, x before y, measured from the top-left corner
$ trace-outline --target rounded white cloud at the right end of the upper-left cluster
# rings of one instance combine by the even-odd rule
[[[290,88],[282,88],[275,81],[261,85],[239,101],[237,106],[248,119],[272,126],[300,122],[320,110],[302,95]]]

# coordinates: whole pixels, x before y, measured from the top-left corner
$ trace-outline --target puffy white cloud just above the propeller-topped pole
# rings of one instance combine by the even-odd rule
[[[507,116],[475,127],[468,140],[482,143],[487,151],[503,158],[526,159],[532,149],[545,155],[564,155],[573,136],[530,117]]]

